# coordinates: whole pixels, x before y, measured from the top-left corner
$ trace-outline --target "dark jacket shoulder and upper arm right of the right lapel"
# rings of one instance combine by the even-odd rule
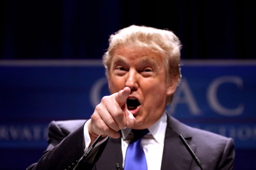
[[[189,144],[196,146],[195,153],[205,169],[233,169],[235,149],[232,138],[193,128],[171,116],[169,118],[172,130],[177,135],[184,136]]]

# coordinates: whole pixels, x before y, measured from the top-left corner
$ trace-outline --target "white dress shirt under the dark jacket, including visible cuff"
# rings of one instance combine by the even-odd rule
[[[148,165],[148,170],[160,170],[162,163],[162,153],[164,150],[164,139],[165,139],[165,130],[167,126],[167,113],[162,114],[161,118],[150,128],[148,128],[149,133],[143,136],[142,138],[142,147],[145,152],[145,157]],[[123,167],[124,160],[126,155],[126,149],[133,139],[134,135],[131,132],[130,128],[121,130],[122,138],[121,138],[121,146],[122,146],[122,154],[123,154]],[[84,126],[84,137],[85,137],[85,151],[89,148],[90,145],[90,136],[87,128],[87,122]],[[101,143],[105,142],[107,137],[103,138],[100,142],[97,143],[97,146],[101,145]],[[93,154],[93,151],[92,151]],[[87,160],[88,161],[88,160]],[[92,162],[92,160],[89,160]]]

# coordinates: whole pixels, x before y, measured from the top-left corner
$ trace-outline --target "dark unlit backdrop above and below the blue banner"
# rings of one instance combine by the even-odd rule
[[[182,59],[255,59],[255,3],[1,1],[0,59],[100,59],[108,47],[109,35],[132,24],[172,30],[182,42]],[[8,159],[10,164],[14,156],[14,161],[0,167],[24,169],[42,152],[42,148],[3,149],[0,158]],[[235,169],[254,169],[255,153],[255,149],[236,150]],[[240,159],[247,160],[245,165]]]

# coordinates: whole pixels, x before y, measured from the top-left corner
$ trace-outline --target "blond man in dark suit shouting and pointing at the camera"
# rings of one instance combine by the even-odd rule
[[[111,95],[102,98],[88,121],[53,121],[47,150],[28,169],[71,169],[98,135],[103,139],[79,169],[199,169],[179,134],[204,170],[233,169],[231,138],[191,128],[165,112],[181,78],[177,36],[130,26],[109,42],[103,63]],[[138,130],[146,131],[144,136],[138,137]]]

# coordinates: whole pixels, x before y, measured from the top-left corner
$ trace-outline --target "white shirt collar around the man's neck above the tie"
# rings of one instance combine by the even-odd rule
[[[156,123],[148,128],[149,133],[158,143],[164,143],[165,130],[167,126],[167,112],[164,112]],[[126,128],[121,130],[122,138],[126,139],[132,129]]]

